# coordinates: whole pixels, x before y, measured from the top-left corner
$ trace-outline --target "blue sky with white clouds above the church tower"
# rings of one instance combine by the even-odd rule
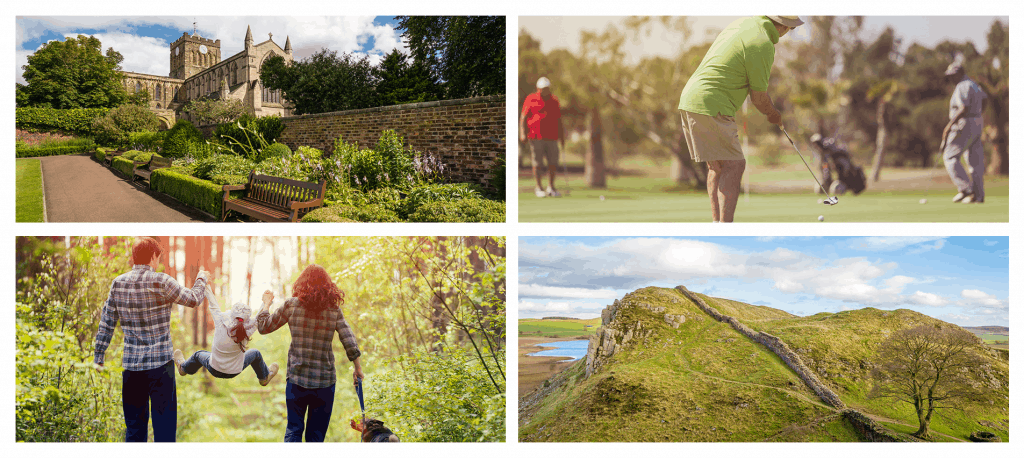
[[[25,83],[22,67],[44,43],[79,34],[95,36],[103,50],[121,52],[126,71],[167,76],[170,43],[184,32],[190,34],[194,22],[200,36],[220,40],[222,57],[242,51],[247,26],[257,43],[273,34],[273,41],[284,47],[290,37],[297,60],[325,47],[366,54],[374,64],[393,48],[408,50],[394,16],[17,16],[15,80]]]

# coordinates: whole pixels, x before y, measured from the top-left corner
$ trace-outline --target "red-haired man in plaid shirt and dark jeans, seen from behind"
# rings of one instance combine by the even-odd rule
[[[177,393],[171,344],[171,308],[175,303],[196,307],[203,303],[209,273],[200,270],[186,289],[167,274],[155,272],[163,250],[152,238],[132,247],[131,272],[114,279],[96,332],[95,363],[103,356],[121,322],[124,357],[121,374],[125,441],[145,442],[150,404],[153,404],[153,438],[174,442],[177,432]]]

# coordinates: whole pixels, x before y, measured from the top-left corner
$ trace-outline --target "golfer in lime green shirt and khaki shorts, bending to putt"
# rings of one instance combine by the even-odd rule
[[[679,97],[690,157],[708,163],[708,196],[714,222],[732,222],[746,160],[733,118],[748,95],[768,122],[782,114],[768,95],[775,44],[804,24],[798,16],[753,16],[734,20],[712,43]]]

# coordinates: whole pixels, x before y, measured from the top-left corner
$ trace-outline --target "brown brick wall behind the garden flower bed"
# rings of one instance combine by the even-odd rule
[[[359,148],[373,148],[381,132],[392,129],[415,151],[437,156],[450,179],[486,184],[495,160],[505,156],[505,96],[427,101],[347,112],[283,118],[278,141],[325,152],[341,136]]]

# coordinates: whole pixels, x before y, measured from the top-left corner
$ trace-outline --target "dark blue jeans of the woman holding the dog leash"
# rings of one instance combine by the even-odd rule
[[[334,408],[334,385],[303,388],[289,380],[285,387],[285,405],[288,407],[285,442],[302,442],[303,428],[306,442],[324,442],[327,427],[331,424],[331,409]],[[308,418],[306,411],[309,412]]]

